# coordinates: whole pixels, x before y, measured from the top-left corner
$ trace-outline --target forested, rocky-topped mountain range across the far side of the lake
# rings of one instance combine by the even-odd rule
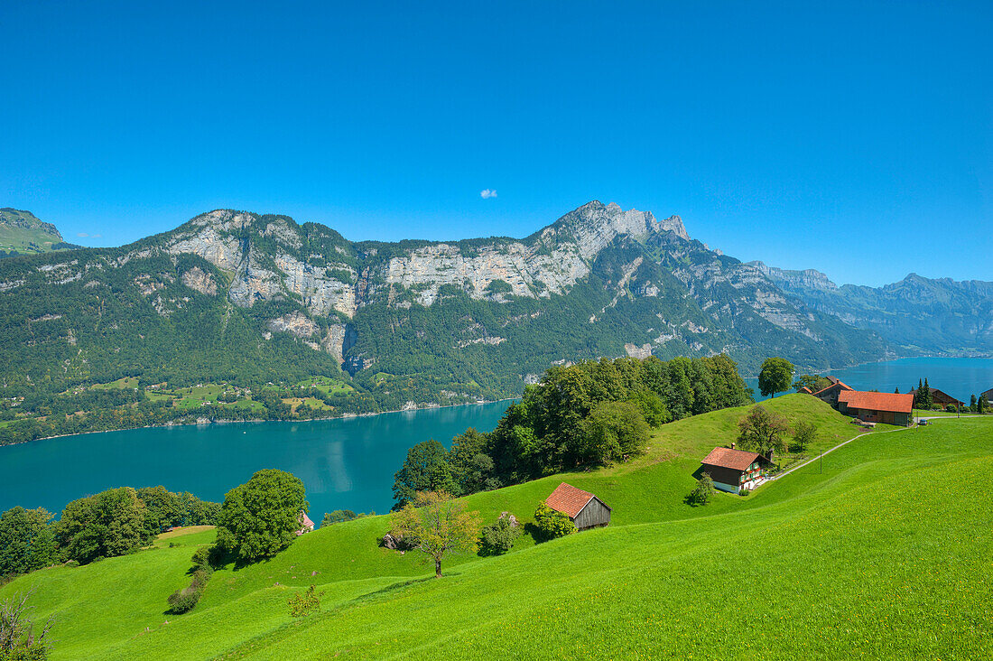
[[[755,373],[768,356],[816,370],[993,352],[993,283],[837,287],[600,202],[524,239],[456,242],[217,210],[121,248],[0,259],[0,325],[13,391],[324,375],[380,403],[446,404],[599,356],[726,353]]]

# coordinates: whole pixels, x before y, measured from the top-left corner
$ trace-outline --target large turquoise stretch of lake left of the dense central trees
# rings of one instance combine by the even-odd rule
[[[233,422],[126,429],[0,447],[0,512],[59,514],[68,502],[119,486],[164,485],[221,501],[262,468],[304,481],[310,516],[389,511],[407,448],[474,426],[490,431],[509,402],[306,422]]]

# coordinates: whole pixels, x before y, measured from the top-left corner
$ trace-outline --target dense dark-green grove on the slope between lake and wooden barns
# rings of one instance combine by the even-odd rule
[[[552,367],[494,431],[467,429],[451,450],[437,440],[410,448],[395,475],[394,509],[419,491],[465,495],[624,461],[643,450],[650,427],[751,401],[734,361],[723,355]]]

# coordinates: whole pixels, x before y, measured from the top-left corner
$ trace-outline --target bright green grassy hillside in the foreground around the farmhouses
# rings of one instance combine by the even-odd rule
[[[859,433],[811,398],[768,406],[817,418],[818,445]],[[376,548],[388,524],[373,517],[217,571],[182,616],[165,613],[165,598],[188,581],[210,530],[38,572],[0,597],[37,588],[37,615],[58,617],[56,659],[993,653],[993,419],[877,431],[827,455],[823,472],[815,462],[745,498],[685,505],[699,458],[733,436],[742,413],[664,425],[631,464],[468,498],[487,520],[510,510],[527,521],[565,479],[601,496],[614,519],[538,546],[522,537],[499,558],[453,559],[441,580],[415,554]],[[321,612],[294,621],[286,598],[312,582],[325,590]]]

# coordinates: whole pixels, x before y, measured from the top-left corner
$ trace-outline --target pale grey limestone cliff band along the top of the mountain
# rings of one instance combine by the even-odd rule
[[[295,296],[314,315],[337,312],[352,318],[359,305],[392,301],[396,286],[414,291],[415,301],[424,306],[435,302],[444,285],[458,286],[478,300],[497,302],[503,300],[504,289],[532,298],[562,294],[589,274],[592,260],[617,237],[640,240],[663,232],[688,240],[678,216],[657,221],[650,212],[591,202],[520,241],[393,248],[394,256],[387,259],[378,258],[378,249],[336,247],[333,253],[317,255],[326,262],[322,265],[301,254],[300,228],[292,220],[217,210],[177,230],[165,249],[171,254],[198,254],[231,272],[228,296],[238,306]],[[272,240],[267,242],[270,249],[260,248],[254,237]],[[352,255],[355,259],[349,258]],[[353,265],[356,260],[365,262],[356,264],[363,268],[361,276]]]

